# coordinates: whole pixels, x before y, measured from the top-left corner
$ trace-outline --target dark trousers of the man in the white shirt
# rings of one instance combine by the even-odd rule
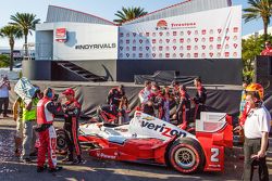
[[[269,171],[265,157],[252,159],[251,156],[256,155],[261,148],[261,139],[245,139],[244,143],[244,181],[251,181],[254,177],[254,167],[259,166],[259,180],[269,181]]]

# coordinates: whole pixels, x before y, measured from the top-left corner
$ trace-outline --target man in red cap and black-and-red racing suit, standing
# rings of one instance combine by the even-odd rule
[[[67,156],[63,161],[82,163],[82,150],[78,142],[78,117],[81,114],[81,104],[75,99],[75,91],[66,89],[62,94],[65,95],[66,102],[62,105],[64,113],[64,129],[66,131],[66,141],[69,146]],[[74,151],[77,159],[74,159]]]

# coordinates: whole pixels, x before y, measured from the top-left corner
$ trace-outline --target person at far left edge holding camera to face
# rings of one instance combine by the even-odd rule
[[[10,81],[7,75],[1,76],[0,81],[0,114],[8,117],[9,91],[11,90]],[[3,108],[2,108],[3,107]]]

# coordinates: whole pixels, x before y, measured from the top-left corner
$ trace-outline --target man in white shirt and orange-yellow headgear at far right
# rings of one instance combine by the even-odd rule
[[[262,104],[263,88],[259,83],[251,83],[246,89],[246,102],[250,105],[244,125],[244,174],[243,180],[252,180],[254,167],[259,166],[259,180],[269,181],[267,166],[267,148],[271,115]]]

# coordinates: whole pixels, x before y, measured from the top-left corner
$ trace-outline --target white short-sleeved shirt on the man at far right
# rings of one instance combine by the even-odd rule
[[[245,137],[247,139],[260,139],[262,138],[262,132],[270,131],[271,116],[269,111],[261,106],[257,109],[251,109],[247,115],[245,122]]]

